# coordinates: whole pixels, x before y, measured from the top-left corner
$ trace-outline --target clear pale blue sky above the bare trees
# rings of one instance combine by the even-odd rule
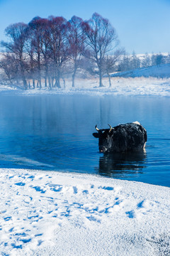
[[[170,0],[0,0],[0,41],[11,23],[50,15],[87,20],[94,12],[108,18],[128,53],[170,52]]]

